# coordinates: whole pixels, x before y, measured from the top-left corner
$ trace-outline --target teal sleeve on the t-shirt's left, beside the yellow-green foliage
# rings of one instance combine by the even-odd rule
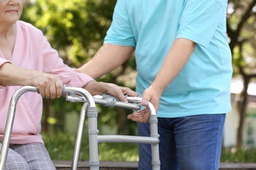
[[[129,21],[126,1],[117,0],[112,24],[104,39],[104,44],[106,43],[135,47],[135,37]]]

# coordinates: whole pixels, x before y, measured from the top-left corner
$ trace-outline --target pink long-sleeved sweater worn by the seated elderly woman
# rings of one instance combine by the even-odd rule
[[[51,48],[43,33],[26,22],[16,22],[17,34],[11,61],[5,59],[0,50],[0,67],[6,62],[26,69],[34,69],[45,73],[59,75],[63,84],[82,87],[93,80],[88,75],[76,73],[65,65],[58,52]],[[1,86],[0,82],[0,142],[7,120],[7,112],[11,97],[21,86]],[[18,100],[16,116],[12,129],[11,143],[43,143],[41,132],[41,116],[43,102],[38,93],[24,93]]]

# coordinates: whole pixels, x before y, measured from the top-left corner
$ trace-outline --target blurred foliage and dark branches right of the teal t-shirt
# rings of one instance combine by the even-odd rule
[[[227,33],[233,56],[234,76],[256,73],[256,6],[255,0],[230,0],[227,9]]]

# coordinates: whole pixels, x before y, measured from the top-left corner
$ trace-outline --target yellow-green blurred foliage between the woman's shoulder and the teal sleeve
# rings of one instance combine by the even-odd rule
[[[21,20],[45,33],[68,65],[78,67],[101,46],[116,0],[26,1]]]

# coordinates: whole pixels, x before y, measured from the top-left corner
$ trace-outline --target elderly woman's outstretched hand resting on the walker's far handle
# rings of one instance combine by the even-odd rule
[[[123,102],[128,102],[125,95],[138,96],[138,94],[130,88],[125,88],[106,82],[90,81],[85,86],[83,86],[83,88],[91,93],[91,95],[103,95],[104,93],[110,94],[118,97]]]

